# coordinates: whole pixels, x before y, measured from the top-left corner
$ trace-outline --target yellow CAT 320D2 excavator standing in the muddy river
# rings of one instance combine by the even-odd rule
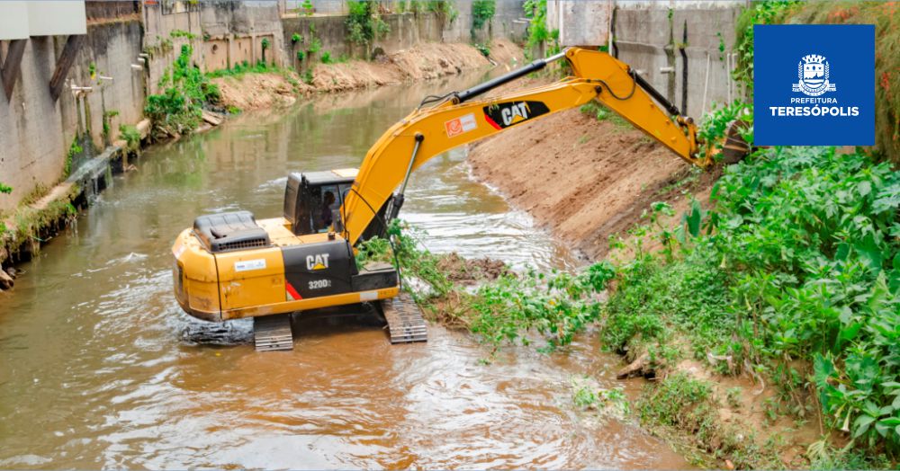
[[[563,59],[572,76],[478,99]],[[172,247],[175,298],[207,321],[253,317],[260,351],[293,348],[291,313],[360,303],[381,307],[392,342],[425,341],[426,323],[410,298],[399,296],[396,268],[357,266],[356,244],[386,236],[410,174],[428,159],[591,100],[690,164],[712,163],[699,156],[694,121],[635,70],[605,52],[565,49],[463,92],[427,97],[378,139],[358,170],[291,173],[280,218],[257,220],[248,211],[196,218]]]

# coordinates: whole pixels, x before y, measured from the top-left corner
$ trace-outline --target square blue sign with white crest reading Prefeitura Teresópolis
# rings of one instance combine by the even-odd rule
[[[753,143],[875,145],[875,25],[753,26]]]

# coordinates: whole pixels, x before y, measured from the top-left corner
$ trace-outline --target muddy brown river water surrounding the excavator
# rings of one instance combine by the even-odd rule
[[[169,247],[195,215],[277,215],[288,171],[357,165],[420,97],[479,78],[323,96],[149,149],[0,293],[0,468],[687,467],[634,423],[573,406],[573,378],[621,386],[595,336],[486,363],[437,325],[391,346],[372,316],[295,318],[293,351],[257,353],[249,322],[175,305]],[[464,157],[410,183],[403,217],[431,250],[578,264]]]

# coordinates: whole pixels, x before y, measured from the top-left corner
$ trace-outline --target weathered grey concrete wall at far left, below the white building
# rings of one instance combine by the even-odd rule
[[[66,40],[31,37],[12,97],[0,93],[0,182],[14,189],[0,194],[0,210],[14,209],[32,191],[58,182],[77,133],[88,133],[95,146],[103,147],[104,110],[118,111],[110,118],[110,138],[120,124],[142,119],[143,71],[132,67],[141,52],[140,22],[89,24],[66,87],[53,101],[49,78]],[[90,90],[73,93],[72,85]]]

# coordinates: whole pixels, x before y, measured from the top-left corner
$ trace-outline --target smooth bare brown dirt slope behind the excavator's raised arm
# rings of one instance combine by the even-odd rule
[[[609,236],[640,221],[651,202],[687,207],[671,185],[689,174],[689,164],[629,126],[562,111],[474,144],[469,161],[477,178],[598,259],[608,253]]]

